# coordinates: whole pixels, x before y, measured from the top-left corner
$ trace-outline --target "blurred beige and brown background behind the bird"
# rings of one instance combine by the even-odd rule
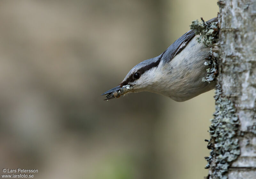
[[[1,167],[40,179],[206,176],[213,90],[182,103],[100,94],[217,12],[214,0],[2,0]]]

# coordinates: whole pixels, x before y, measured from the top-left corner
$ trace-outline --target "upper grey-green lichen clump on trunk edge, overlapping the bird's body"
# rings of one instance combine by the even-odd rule
[[[195,30],[196,35],[199,35],[196,37],[198,43],[203,42],[206,47],[210,47],[208,62],[205,62],[204,65],[211,67],[207,69],[207,76],[202,79],[203,82],[210,83],[218,75],[218,53],[215,52],[217,49],[215,47],[213,48],[213,44],[216,43],[216,39],[218,38],[219,28],[218,22],[206,23],[203,18],[201,20],[201,22],[198,20],[192,21],[190,28]]]

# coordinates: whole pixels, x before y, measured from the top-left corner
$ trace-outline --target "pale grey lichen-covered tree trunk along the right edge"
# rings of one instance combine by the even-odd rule
[[[256,1],[218,3],[220,33],[213,52],[219,75],[208,177],[256,179]]]

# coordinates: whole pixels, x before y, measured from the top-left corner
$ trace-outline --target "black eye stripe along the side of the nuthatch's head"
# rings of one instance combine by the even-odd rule
[[[166,52],[166,51],[164,51],[164,52],[161,54],[161,56],[160,56],[155,62],[153,62],[153,63],[151,63],[151,64],[148,64],[148,65],[146,65],[146,66],[143,66],[142,68],[140,68],[139,70],[137,70],[137,73],[140,73],[140,76],[141,76],[143,73],[145,73],[146,71],[150,70],[151,68],[157,67],[157,66],[159,65],[161,59],[163,58],[165,52]],[[135,73],[136,73],[136,72],[135,72]],[[134,82],[135,80],[137,80],[137,79],[133,78],[133,75],[134,75],[134,74],[131,74],[131,75],[129,76],[129,78],[127,78],[124,82],[120,83],[120,86],[127,85],[129,82]]]

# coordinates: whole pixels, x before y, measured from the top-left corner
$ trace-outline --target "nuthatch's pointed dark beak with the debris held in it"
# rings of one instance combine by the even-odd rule
[[[132,90],[132,86],[130,85],[124,85],[122,87],[120,86],[117,86],[113,89],[110,89],[108,91],[106,91],[105,93],[103,93],[102,95],[106,95],[107,99],[104,99],[104,100],[108,100],[108,99],[113,99],[113,98],[118,98],[120,97],[121,95],[129,92],[130,90]],[[101,95],[101,96],[102,96]]]

